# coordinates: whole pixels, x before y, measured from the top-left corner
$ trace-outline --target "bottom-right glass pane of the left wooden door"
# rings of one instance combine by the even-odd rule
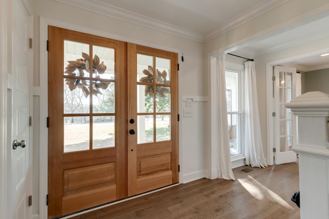
[[[93,116],[93,149],[115,147],[115,117]]]

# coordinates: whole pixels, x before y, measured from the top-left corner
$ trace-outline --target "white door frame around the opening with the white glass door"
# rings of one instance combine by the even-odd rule
[[[327,52],[329,47],[316,50],[313,52],[303,53],[287,58],[278,59],[276,61],[271,61],[266,63],[266,121],[267,121],[267,165],[273,165],[273,131],[275,130],[274,124],[271,122],[272,112],[273,112],[273,97],[272,97],[272,75],[273,75],[273,66],[280,65],[283,63],[297,61],[298,59],[312,57],[316,55],[323,54],[323,52]]]

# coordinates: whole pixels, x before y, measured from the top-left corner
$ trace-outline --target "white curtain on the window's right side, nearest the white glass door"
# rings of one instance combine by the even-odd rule
[[[261,126],[258,112],[257,85],[254,62],[245,62],[245,148],[246,164],[252,167],[267,167],[265,162]]]

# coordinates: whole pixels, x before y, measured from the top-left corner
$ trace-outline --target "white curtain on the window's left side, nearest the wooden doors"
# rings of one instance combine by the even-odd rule
[[[217,60],[217,130],[218,130],[218,150],[217,150],[217,170],[218,178],[234,180],[231,165],[231,154],[229,147],[227,103],[225,85],[225,55],[221,55]]]

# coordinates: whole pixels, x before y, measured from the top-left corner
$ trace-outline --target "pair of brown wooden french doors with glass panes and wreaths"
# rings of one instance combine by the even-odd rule
[[[177,54],[51,26],[48,41],[48,217],[177,183]]]

